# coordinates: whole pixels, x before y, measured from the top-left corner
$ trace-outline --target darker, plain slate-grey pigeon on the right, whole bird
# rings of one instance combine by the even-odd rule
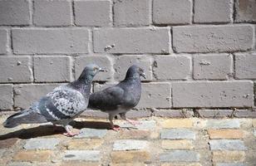
[[[111,129],[119,130],[113,124],[113,118],[120,115],[121,119],[135,125],[135,120],[126,118],[126,112],[138,105],[141,95],[140,76],[145,78],[143,69],[139,66],[130,66],[126,72],[125,80],[119,84],[97,91],[90,95],[88,107],[92,110],[101,110],[109,114]]]

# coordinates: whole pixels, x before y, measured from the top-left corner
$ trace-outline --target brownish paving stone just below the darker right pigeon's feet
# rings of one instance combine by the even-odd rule
[[[148,139],[150,131],[148,130],[121,130],[119,132],[120,139]]]

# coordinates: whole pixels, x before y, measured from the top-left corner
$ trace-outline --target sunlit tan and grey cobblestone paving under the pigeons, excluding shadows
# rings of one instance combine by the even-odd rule
[[[7,115],[2,115],[0,122]],[[79,118],[81,133],[62,135],[52,125],[0,127],[0,165],[255,166],[256,119],[139,119],[140,125]]]

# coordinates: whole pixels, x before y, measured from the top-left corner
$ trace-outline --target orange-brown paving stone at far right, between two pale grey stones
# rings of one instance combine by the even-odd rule
[[[242,139],[243,130],[240,129],[208,129],[210,139]]]

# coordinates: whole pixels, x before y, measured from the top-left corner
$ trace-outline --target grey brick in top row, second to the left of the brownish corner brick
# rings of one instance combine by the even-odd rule
[[[192,20],[191,0],[154,0],[153,22],[156,24],[188,24]]]

